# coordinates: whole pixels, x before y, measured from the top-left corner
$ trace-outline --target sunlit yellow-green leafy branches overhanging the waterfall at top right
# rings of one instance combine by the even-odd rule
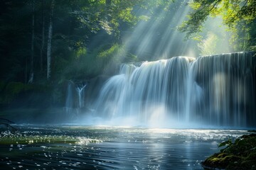
[[[256,0],[195,0],[190,6],[193,11],[188,16],[188,21],[183,22],[179,28],[187,37],[202,31],[203,23],[208,16],[221,16],[223,22],[234,33],[233,42],[242,43],[241,50],[250,49],[255,45],[250,30],[255,26]],[[245,42],[250,43],[245,45]]]

